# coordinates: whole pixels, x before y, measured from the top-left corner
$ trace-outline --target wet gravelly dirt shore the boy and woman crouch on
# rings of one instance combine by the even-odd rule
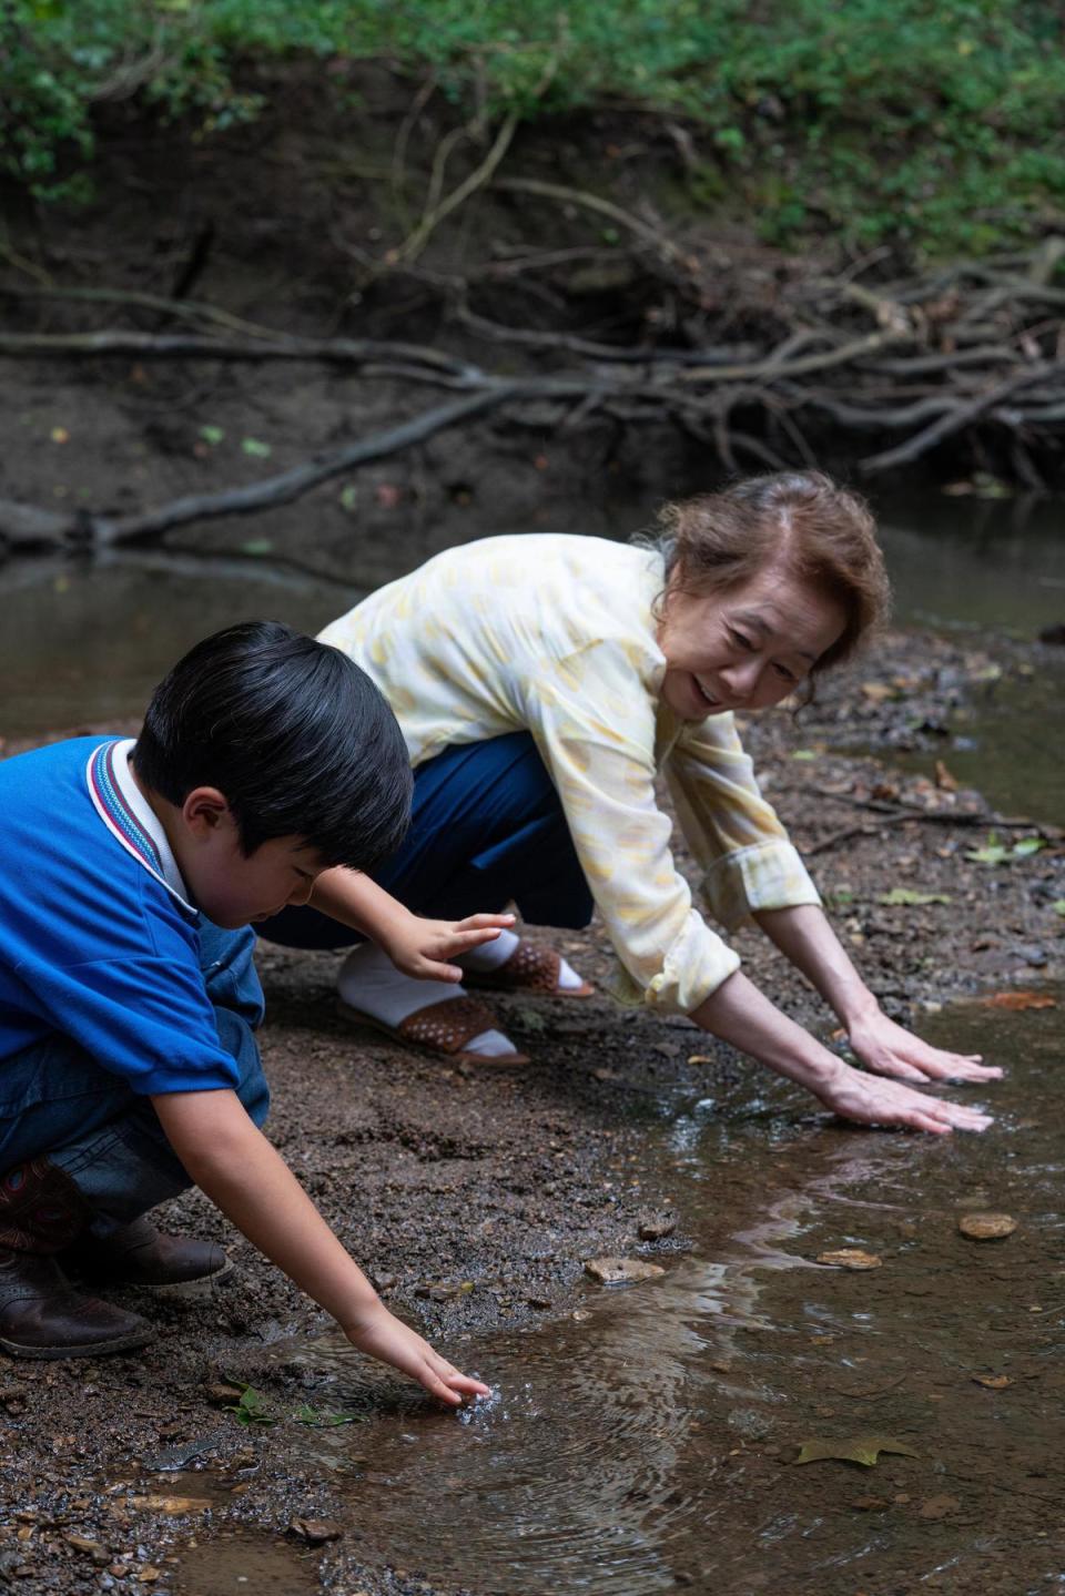
[[[1065,964],[1065,921],[1054,910],[1065,895],[1060,832],[1000,827],[1011,847],[1022,838],[1044,846],[1000,865],[966,859],[987,846],[993,820],[977,792],[952,785],[952,757],[936,726],[950,725],[995,686],[993,669],[1023,685],[1049,669],[1049,659],[1020,645],[1001,645],[992,656],[897,635],[825,685],[797,721],[773,713],[746,731],[768,792],[811,852],[870,985],[891,1013],[918,1023],[953,996],[1031,988]],[[899,742],[939,750],[939,785],[893,763]],[[877,752],[840,752],[859,745]],[[899,887],[928,902],[886,903]],[[562,946],[581,970],[602,974],[596,927],[565,934]],[[830,1034],[830,1017],[763,938],[744,932],[738,946],[747,972],[789,1013]],[[567,1352],[564,1326],[586,1312],[588,1258],[628,1253],[679,1266],[698,1205],[723,1224],[744,1205],[757,1215],[758,1183],[770,1191],[787,1165],[802,1184],[803,1149],[824,1138],[810,1098],[768,1087],[762,1071],[683,1021],[624,1013],[600,998],[572,1005],[508,999],[500,1004],[508,1029],[527,1044],[533,1065],[516,1074],[474,1073],[350,1031],[334,1009],[327,954],[263,948],[262,974],[273,1140],[390,1304],[460,1363],[473,1347],[479,1357],[489,1349],[490,1358],[493,1345],[536,1325],[557,1325],[559,1357],[580,1357]],[[984,1095],[993,1106],[995,1088]],[[696,1192],[677,1165],[664,1165],[648,1148],[661,1114],[675,1111],[663,1104],[711,1100],[719,1106],[703,1112],[720,1116],[723,1130],[754,1127],[755,1163],[742,1175],[726,1159],[711,1162]],[[766,1101],[773,1117],[762,1148]],[[992,1165],[998,1133],[992,1128],[982,1146]],[[851,1130],[833,1141],[845,1146],[848,1138],[856,1149],[877,1143]],[[917,1138],[886,1144],[896,1181],[912,1179],[928,1162]],[[663,1210],[675,1216],[674,1234],[640,1240],[640,1224]],[[346,1596],[453,1591],[455,1582],[441,1580],[428,1555],[415,1567],[394,1567],[358,1479],[385,1444],[374,1428],[382,1419],[393,1416],[393,1451],[410,1430],[444,1456],[457,1420],[431,1417],[417,1392],[362,1360],[348,1361],[339,1385],[323,1315],[203,1199],[179,1200],[166,1223],[220,1237],[236,1261],[235,1278],[195,1302],[145,1306],[131,1293],[131,1306],[158,1326],[156,1342],[137,1357],[0,1369],[3,1577],[29,1593],[62,1596],[134,1588],[216,1596],[247,1582]],[[795,1365],[797,1400],[803,1377]],[[217,1392],[224,1379],[249,1382],[281,1422],[243,1427],[222,1409],[235,1401],[232,1392]],[[549,1371],[538,1368],[538,1379]],[[311,1428],[307,1412],[303,1422],[297,1417],[305,1404],[315,1411],[311,1424],[343,1412],[359,1422]],[[779,1467],[765,1449],[749,1456],[749,1440],[720,1432],[715,1451],[715,1499],[733,1502],[741,1516],[757,1499],[752,1478]],[[602,1446],[610,1451],[610,1436]],[[177,1473],[152,1467],[176,1459],[185,1462]],[[813,1481],[808,1489],[816,1495]],[[894,1489],[905,1492],[902,1473]],[[412,1510],[447,1513],[439,1500]],[[289,1527],[295,1519],[326,1521],[337,1539],[318,1539],[311,1529],[311,1545],[307,1526]],[[901,1556],[893,1561],[885,1548],[886,1566],[899,1570],[896,1583],[867,1588],[902,1588],[909,1564]],[[851,1590],[832,1578],[825,1574],[821,1588]]]

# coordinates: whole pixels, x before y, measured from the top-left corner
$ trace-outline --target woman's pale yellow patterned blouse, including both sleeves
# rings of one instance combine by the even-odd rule
[[[450,744],[533,734],[621,962],[615,994],[690,1013],[739,956],[674,865],[659,771],[726,927],[819,897],[758,793],[733,717],[680,721],[659,704],[661,589],[661,555],[632,544],[485,538],[382,587],[321,640],[382,688],[414,764]]]

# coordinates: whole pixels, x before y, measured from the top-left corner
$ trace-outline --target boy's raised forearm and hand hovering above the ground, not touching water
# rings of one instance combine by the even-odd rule
[[[369,876],[343,865],[323,870],[308,902],[342,926],[366,932],[404,975],[433,982],[460,982],[463,972],[447,961],[493,942],[500,930],[514,924],[513,915],[423,919]]]

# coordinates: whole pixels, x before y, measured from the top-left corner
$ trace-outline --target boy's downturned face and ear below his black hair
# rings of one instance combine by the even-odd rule
[[[236,930],[307,903],[315,878],[326,868],[315,849],[302,836],[273,836],[244,854],[225,800],[214,801],[220,796],[200,788],[182,809],[185,824],[174,852],[198,908],[224,930]]]

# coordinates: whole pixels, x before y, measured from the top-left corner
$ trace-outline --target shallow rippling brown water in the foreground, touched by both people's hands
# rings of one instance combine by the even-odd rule
[[[848,1570],[840,1588],[865,1588],[888,1550],[909,1577],[891,1588],[909,1590],[955,1566],[972,1578],[1009,1545],[1011,1491],[1035,1489],[1038,1508],[1065,1484],[1051,1269],[1065,1224],[1062,1026],[1054,1010],[972,1005],[936,1028],[1009,1068],[984,1088],[1000,1116],[988,1135],[797,1125],[776,1087],[754,1116],[750,1103],[671,1106],[640,1176],[669,1189],[691,1251],[659,1254],[661,1280],[584,1288],[562,1323],[453,1349],[493,1385],[460,1424],[388,1376],[367,1384],[340,1337],[279,1349],[318,1371],[315,1401],[367,1414],[295,1443],[340,1467],[359,1555],[479,1593],[643,1596],[679,1582],[798,1588],[833,1569]],[[958,1215],[984,1205],[1020,1219],[1008,1243],[958,1234]],[[883,1267],[813,1262],[838,1246]],[[974,1384],[1011,1369],[1009,1390]],[[856,1465],[789,1465],[802,1440],[861,1433],[920,1457],[885,1457],[872,1486]],[[875,1511],[851,1505],[862,1492]],[[955,1523],[974,1513],[979,1540]],[[1049,1572],[1038,1540],[1027,1556]]]

